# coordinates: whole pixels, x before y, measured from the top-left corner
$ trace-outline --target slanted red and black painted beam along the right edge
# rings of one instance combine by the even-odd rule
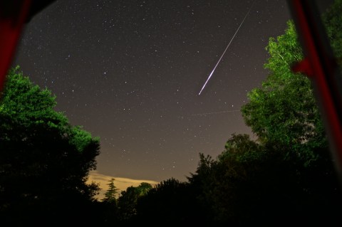
[[[342,182],[342,77],[315,1],[289,0],[288,3],[305,56],[293,70],[309,74],[314,85],[331,153]]]

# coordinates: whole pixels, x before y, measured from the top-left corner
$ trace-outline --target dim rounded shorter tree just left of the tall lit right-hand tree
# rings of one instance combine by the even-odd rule
[[[249,209],[254,210],[259,203],[260,196],[255,195],[262,191],[255,182],[261,171],[268,169],[263,148],[247,134],[232,134],[217,159],[203,154],[199,158],[197,171],[189,181],[197,189],[206,226],[248,223],[253,213]]]

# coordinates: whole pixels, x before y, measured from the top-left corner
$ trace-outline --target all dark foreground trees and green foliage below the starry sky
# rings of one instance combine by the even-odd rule
[[[340,64],[341,3],[324,15]],[[341,184],[311,83],[290,70],[303,58],[291,21],[266,50],[269,75],[242,107],[257,141],[232,134],[218,157],[199,154],[186,182],[118,194],[111,179],[103,201],[86,184],[99,139],[11,69],[0,100],[1,226],[341,226]]]

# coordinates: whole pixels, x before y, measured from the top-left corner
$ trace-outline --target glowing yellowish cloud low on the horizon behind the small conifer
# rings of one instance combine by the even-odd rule
[[[121,191],[125,191],[129,186],[139,186],[142,182],[146,182],[148,184],[151,184],[152,186],[155,186],[156,184],[159,184],[160,182],[157,181],[150,181],[150,180],[143,180],[143,179],[129,179],[129,178],[123,178],[123,177],[115,177],[115,176],[108,176],[104,174],[98,173],[98,171],[91,171],[88,178],[88,184],[91,182],[95,182],[97,184],[100,184],[100,194],[96,196],[96,199],[101,200],[104,197],[105,191],[108,190],[108,181],[110,179],[114,178],[114,185],[118,189],[118,195]]]

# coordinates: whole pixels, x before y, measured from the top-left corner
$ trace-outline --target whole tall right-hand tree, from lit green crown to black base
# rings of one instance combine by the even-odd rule
[[[342,1],[336,1],[323,14],[337,56],[341,56],[341,6]],[[269,75],[261,88],[248,94],[249,102],[242,107],[244,120],[266,153],[279,157],[279,167],[284,169],[279,172],[282,181],[291,179],[289,184],[277,182],[274,190],[289,196],[302,216],[312,223],[324,219],[333,223],[334,216],[341,212],[333,208],[336,201],[341,202],[341,189],[311,81],[305,75],[291,72],[291,65],[303,58],[292,21],[284,35],[269,39],[266,51],[270,57],[264,67]],[[291,193],[281,190],[281,186]]]

